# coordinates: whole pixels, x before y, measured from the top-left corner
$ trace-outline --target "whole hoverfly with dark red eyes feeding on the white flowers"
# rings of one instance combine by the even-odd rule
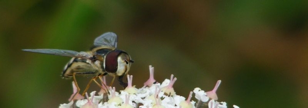
[[[89,88],[90,83],[104,75],[117,76],[124,88],[127,87],[127,83],[123,82],[123,76],[125,76],[130,68],[131,57],[127,52],[117,49],[118,37],[112,32],[104,33],[94,40],[94,46],[90,51],[73,51],[64,49],[23,49],[24,51],[45,53],[49,55],[67,56],[73,57],[67,65],[64,67],[62,77],[71,78],[80,91],[76,82],[75,75],[93,75],[87,88],[83,92],[83,95]],[[101,79],[101,78],[100,78]],[[98,83],[97,83],[98,84]],[[98,84],[99,85],[99,84]]]

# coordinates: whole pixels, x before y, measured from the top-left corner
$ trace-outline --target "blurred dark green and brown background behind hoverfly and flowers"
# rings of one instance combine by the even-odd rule
[[[229,107],[304,107],[307,7],[306,0],[1,1],[1,106],[58,107],[72,93],[71,80],[60,77],[70,58],[21,49],[85,51],[111,31],[135,61],[129,74],[137,87],[152,65],[158,82],[174,74],[185,97],[221,79],[218,100]],[[88,79],[78,77],[81,89]]]

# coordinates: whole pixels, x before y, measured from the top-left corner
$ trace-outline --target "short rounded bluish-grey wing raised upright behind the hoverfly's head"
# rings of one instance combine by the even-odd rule
[[[117,48],[118,36],[112,32],[104,33],[94,40],[94,46],[112,46]]]

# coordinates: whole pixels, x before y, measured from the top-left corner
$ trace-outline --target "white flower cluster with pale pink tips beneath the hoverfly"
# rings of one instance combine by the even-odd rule
[[[131,108],[131,107],[209,107],[209,108],[225,108],[226,102],[218,102],[216,90],[220,84],[220,80],[217,82],[213,91],[204,92],[200,88],[195,88],[195,98],[198,100],[191,100],[192,92],[190,92],[188,98],[177,95],[173,89],[173,85],[177,78],[165,79],[163,83],[157,83],[153,78],[153,67],[150,66],[150,78],[144,83],[144,87],[137,89],[131,86],[132,75],[127,76],[128,86],[125,90],[121,90],[120,93],[115,91],[115,88],[109,87],[108,93],[99,93],[95,96],[95,91],[90,93],[90,97],[86,93],[87,99],[78,99],[69,103],[60,104],[61,108],[76,107],[100,107],[100,108]],[[74,83],[73,83],[74,86]],[[108,96],[104,96],[108,95]],[[105,100],[105,101],[104,101]],[[235,108],[238,106],[233,105]]]

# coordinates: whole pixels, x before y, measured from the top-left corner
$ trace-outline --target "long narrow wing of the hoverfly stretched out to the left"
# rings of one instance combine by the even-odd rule
[[[64,49],[23,49],[24,51],[36,52],[36,53],[46,53],[49,55],[58,55],[58,56],[68,56],[75,58],[84,58],[90,59],[91,55],[87,52],[78,52],[73,50],[64,50]]]

